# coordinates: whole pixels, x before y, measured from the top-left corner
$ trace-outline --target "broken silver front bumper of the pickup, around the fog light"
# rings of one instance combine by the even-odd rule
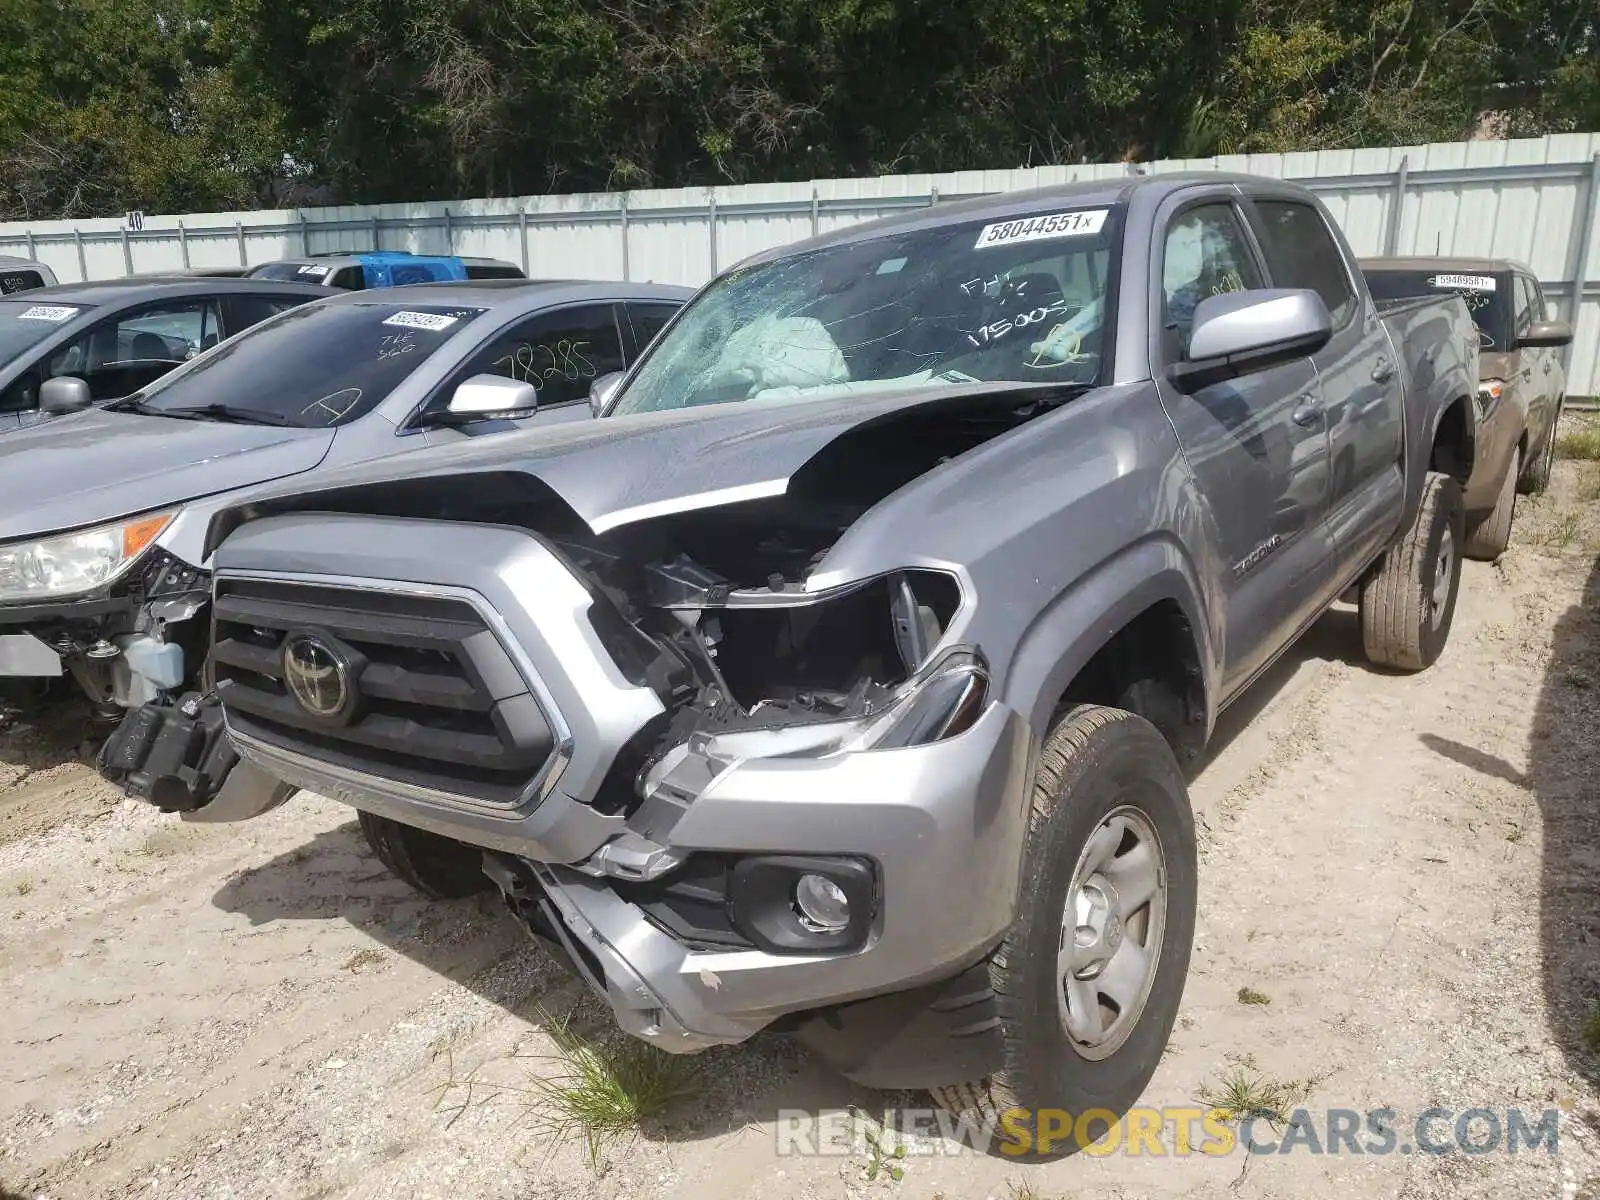
[[[470,819],[451,822],[371,781],[363,787],[299,755],[235,741],[246,762],[290,784],[480,843]],[[688,803],[661,850],[872,859],[880,885],[872,933],[846,954],[685,944],[624,899],[611,878],[582,870],[582,859],[549,854],[549,846],[600,850],[627,837],[648,856],[651,843],[622,818],[570,797],[541,805],[536,840],[499,850],[525,866],[523,886],[534,885],[549,901],[570,955],[626,1030],[664,1050],[704,1050],[744,1042],[794,1013],[947,979],[981,958],[1005,933],[1016,902],[1029,747],[1026,722],[992,704],[971,730],[934,746],[746,760]],[[502,890],[507,878],[496,875]]]

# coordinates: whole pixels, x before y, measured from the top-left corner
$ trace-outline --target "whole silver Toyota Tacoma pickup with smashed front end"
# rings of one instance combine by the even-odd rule
[[[1218,712],[1352,590],[1374,662],[1445,648],[1477,358],[1456,296],[1379,317],[1285,182],[845,229],[707,285],[598,421],[218,514],[213,690],[106,770],[221,709],[242,760],[174,750],[157,803],[342,800],[658,1046],[776,1029],[973,1120],[1122,1112]]]

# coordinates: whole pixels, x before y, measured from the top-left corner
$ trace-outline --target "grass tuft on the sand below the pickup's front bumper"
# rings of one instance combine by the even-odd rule
[[[570,1018],[544,1018],[565,1072],[536,1077],[533,1090],[554,1109],[557,1134],[581,1133],[590,1166],[598,1168],[606,1144],[638,1133],[674,1101],[698,1094],[698,1064],[632,1037],[589,1042],[573,1032]]]

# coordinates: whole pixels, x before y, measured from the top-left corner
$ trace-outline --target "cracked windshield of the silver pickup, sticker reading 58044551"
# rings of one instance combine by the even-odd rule
[[[710,286],[616,414],[973,382],[1096,384],[1109,208],[830,246]]]

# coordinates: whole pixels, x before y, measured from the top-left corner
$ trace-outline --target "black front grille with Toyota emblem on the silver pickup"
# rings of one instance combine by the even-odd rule
[[[326,698],[285,662],[338,662]],[[296,658],[291,656],[291,658]],[[221,578],[211,664],[229,726],[347,771],[512,808],[549,774],[558,736],[510,654],[466,600]],[[325,670],[320,678],[334,678]],[[325,699],[344,698],[338,712]]]

